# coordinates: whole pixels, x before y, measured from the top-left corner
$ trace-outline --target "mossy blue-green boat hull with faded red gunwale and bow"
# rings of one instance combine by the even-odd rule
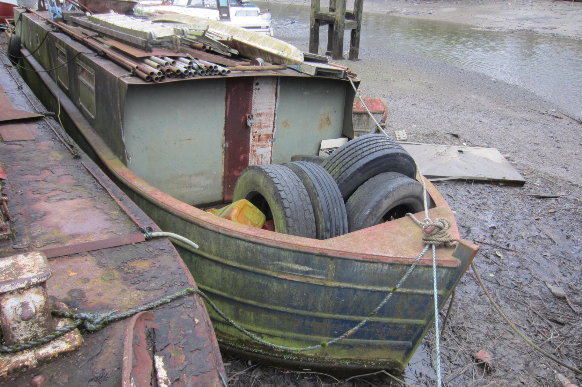
[[[29,53],[26,49],[22,52]],[[42,70],[34,56],[27,59],[29,69]],[[51,76],[26,75],[38,94],[55,106],[59,92]],[[105,144],[100,135],[104,128],[93,128],[76,102],[61,95],[61,105],[68,114],[68,130],[83,138],[116,184],[162,230],[184,235],[200,245],[198,250],[177,245],[200,289],[243,328],[272,343],[311,346],[353,328],[384,299],[424,247],[421,229],[409,218],[325,241],[222,220],[147,184]],[[448,217],[451,234],[458,238],[445,200],[431,184],[428,193],[435,203],[431,218]],[[468,241],[460,242],[456,249],[437,249],[439,308],[477,250]],[[222,347],[249,358],[335,374],[379,369],[402,372],[432,326],[431,266],[432,257],[427,255],[368,324],[336,345],[310,352],[264,347],[216,314],[210,315]]]

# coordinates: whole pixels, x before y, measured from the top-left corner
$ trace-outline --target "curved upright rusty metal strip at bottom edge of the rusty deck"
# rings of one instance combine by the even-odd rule
[[[153,313],[143,311],[127,322],[123,339],[122,387],[150,387],[154,363],[145,339],[145,329],[155,325]],[[159,328],[159,327],[158,327]],[[153,351],[153,349],[150,349]]]

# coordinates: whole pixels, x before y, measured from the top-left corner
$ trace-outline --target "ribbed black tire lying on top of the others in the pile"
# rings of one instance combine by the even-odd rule
[[[360,136],[336,149],[322,166],[333,176],[347,200],[377,174],[398,172],[416,177],[414,159],[396,141],[382,134]]]

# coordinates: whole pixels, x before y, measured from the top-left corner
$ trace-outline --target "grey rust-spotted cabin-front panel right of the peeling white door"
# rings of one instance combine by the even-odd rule
[[[346,83],[323,78],[279,78],[272,163],[317,155],[322,139],[342,137]]]

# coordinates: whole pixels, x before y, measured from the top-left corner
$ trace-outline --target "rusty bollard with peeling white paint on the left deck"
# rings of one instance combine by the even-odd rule
[[[26,343],[54,331],[49,277],[51,269],[41,252],[0,259],[0,323],[5,345]]]

